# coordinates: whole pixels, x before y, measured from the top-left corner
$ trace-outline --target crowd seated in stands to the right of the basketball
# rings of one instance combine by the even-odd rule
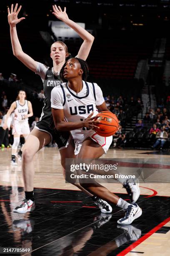
[[[170,148],[170,97],[166,102],[153,110],[148,109],[145,116],[138,120],[138,114],[143,113],[143,102],[138,97],[134,99],[119,96],[108,95],[105,97],[107,108],[117,115],[120,120],[120,128],[113,135],[112,147],[125,148],[152,148],[160,149]],[[136,117],[137,123],[132,131],[126,131],[126,124],[131,123],[132,118]]]

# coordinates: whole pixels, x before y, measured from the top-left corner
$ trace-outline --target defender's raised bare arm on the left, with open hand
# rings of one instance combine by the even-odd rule
[[[36,72],[37,61],[35,61],[28,54],[25,54],[25,52],[23,52],[23,49],[20,45],[20,41],[18,39],[16,25],[21,20],[24,20],[25,18],[22,17],[18,19],[18,13],[21,10],[21,5],[18,8],[18,10],[17,8],[18,8],[18,4],[15,5],[14,10],[13,10],[13,4],[11,5],[11,10],[10,8],[7,8],[7,12],[8,12],[7,18],[8,18],[8,23],[10,25],[10,37],[11,37],[11,44],[13,47],[13,54],[14,56],[17,57],[17,59],[22,61],[23,64],[25,64],[25,66],[27,66],[32,71]]]

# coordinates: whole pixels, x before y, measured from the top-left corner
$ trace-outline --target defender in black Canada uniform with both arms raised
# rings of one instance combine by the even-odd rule
[[[65,63],[65,59],[69,56],[67,46],[61,42],[57,41],[51,46],[50,56],[53,60],[53,68],[49,69],[45,67],[45,65],[38,63],[30,56],[23,52],[23,49],[20,45],[20,41],[18,39],[16,24],[21,20],[25,19],[24,17],[18,19],[18,13],[21,9],[21,6],[18,8],[18,4],[15,5],[13,10],[13,5],[11,5],[11,10],[8,8],[8,22],[10,25],[10,36],[11,43],[13,46],[13,54],[25,64],[29,69],[33,72],[40,74],[43,82],[44,82],[44,91],[45,91],[45,106],[42,109],[42,115],[40,121],[37,123],[36,128],[34,128],[30,136],[28,137],[27,142],[25,143],[22,157],[22,168],[23,168],[23,180],[25,187],[25,199],[22,204],[14,209],[14,212],[25,213],[35,208],[34,202],[34,168],[33,168],[33,156],[39,151],[43,146],[50,143],[52,138],[52,130],[49,128],[50,118],[51,118],[51,110],[50,110],[50,95],[53,87],[57,86],[58,83],[61,83],[59,74],[62,66]],[[77,54],[77,57],[86,60],[87,56],[90,52],[92,43],[94,41],[94,37],[88,33],[84,28],[77,25],[74,21],[70,20],[66,13],[66,8],[64,11],[61,10],[60,7],[52,6],[53,14],[59,19],[62,20],[67,26],[75,30],[79,36],[83,39],[83,43],[80,47],[80,50]],[[58,146],[60,148],[61,155],[61,164],[63,169],[65,170],[65,158],[74,157],[68,155],[69,150],[69,138],[68,133],[65,133],[65,137],[62,135],[57,136]],[[56,140],[56,139],[55,139]],[[68,146],[68,147],[67,147]],[[66,148],[67,147],[67,148]],[[97,197],[94,197],[85,189],[83,189],[80,184],[77,184],[77,187],[82,189],[87,195],[91,196],[92,199],[97,202],[97,206],[101,208],[102,212],[110,213],[112,208],[107,202],[100,200]]]

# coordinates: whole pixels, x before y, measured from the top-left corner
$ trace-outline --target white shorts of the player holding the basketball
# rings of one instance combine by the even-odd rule
[[[113,136],[102,137],[102,136],[98,135],[97,133],[95,133],[94,131],[93,131],[93,133],[91,133],[91,131],[89,133],[87,133],[87,135],[85,136],[83,141],[85,141],[85,139],[88,138],[88,137],[92,138],[93,141],[97,142],[97,144],[99,144],[103,148],[103,150],[104,150],[104,152],[106,154],[107,150],[109,149],[109,147],[110,147],[110,145],[112,143]],[[80,149],[82,147],[82,142],[83,141],[74,140],[74,143],[75,143],[75,155],[79,154]]]

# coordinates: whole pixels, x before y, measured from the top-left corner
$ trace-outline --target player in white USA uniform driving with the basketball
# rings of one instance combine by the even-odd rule
[[[78,58],[69,59],[62,67],[61,77],[68,82],[55,87],[51,92],[52,116],[58,131],[70,131],[77,154],[77,161],[98,159],[107,152],[112,136],[102,137],[93,130],[97,129],[97,120],[92,118],[97,111],[108,111],[102,91],[97,84],[85,82],[88,74],[87,63]],[[89,129],[90,128],[90,129]],[[84,160],[85,161],[85,160]],[[125,217],[117,220],[121,225],[131,224],[142,214],[141,208],[135,203],[130,204],[110,192],[97,182],[80,184],[93,195],[107,200],[126,211]],[[139,197],[139,195],[138,195]],[[137,198],[138,199],[138,198]]]

